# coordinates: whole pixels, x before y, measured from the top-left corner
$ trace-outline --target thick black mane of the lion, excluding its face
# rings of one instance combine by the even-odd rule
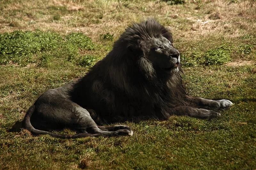
[[[180,72],[154,68],[145,56],[145,43],[159,35],[172,42],[170,31],[155,19],[128,27],[113,50],[76,82],[72,100],[97,123],[167,119],[173,107],[187,105]]]

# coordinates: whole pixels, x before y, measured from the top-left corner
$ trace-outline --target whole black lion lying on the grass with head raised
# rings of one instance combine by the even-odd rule
[[[173,114],[220,116],[216,111],[232,102],[189,97],[180,76],[180,53],[172,42],[172,34],[156,20],[134,23],[83,78],[42,94],[29,108],[24,128],[60,138],[132,135],[128,126],[97,124],[166,120]],[[48,132],[62,128],[78,134]]]

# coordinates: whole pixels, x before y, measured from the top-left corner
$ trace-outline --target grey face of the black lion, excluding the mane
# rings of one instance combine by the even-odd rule
[[[180,53],[165,37],[150,38],[146,43],[146,48],[148,50],[145,55],[153,66],[167,71],[178,68]]]

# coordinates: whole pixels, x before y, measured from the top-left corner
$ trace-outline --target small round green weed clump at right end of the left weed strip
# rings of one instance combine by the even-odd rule
[[[67,39],[68,43],[71,43],[82,50],[93,50],[95,48],[91,38],[83,33],[71,33],[68,34],[65,39]]]

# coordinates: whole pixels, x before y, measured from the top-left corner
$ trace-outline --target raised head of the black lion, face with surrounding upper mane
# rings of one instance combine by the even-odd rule
[[[131,51],[137,57],[142,70],[152,77],[156,71],[179,70],[180,53],[172,43],[169,30],[150,18],[126,28],[114,48],[126,48]]]

